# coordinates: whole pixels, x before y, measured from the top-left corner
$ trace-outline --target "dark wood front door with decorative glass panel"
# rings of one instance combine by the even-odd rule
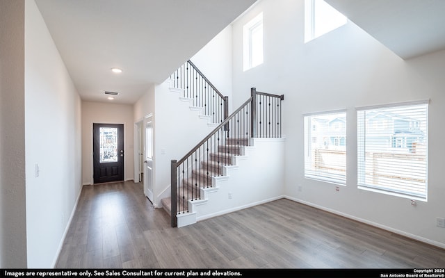
[[[124,125],[93,124],[94,183],[124,180]]]

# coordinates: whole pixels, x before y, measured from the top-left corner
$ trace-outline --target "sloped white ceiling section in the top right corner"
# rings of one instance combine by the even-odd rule
[[[407,60],[445,49],[444,0],[325,0]]]

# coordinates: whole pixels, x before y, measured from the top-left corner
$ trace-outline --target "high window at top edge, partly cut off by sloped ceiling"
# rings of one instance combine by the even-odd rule
[[[305,42],[314,40],[348,22],[323,0],[305,0]]]

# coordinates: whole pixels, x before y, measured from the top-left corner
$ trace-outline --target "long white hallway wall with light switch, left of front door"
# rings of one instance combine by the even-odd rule
[[[81,100],[34,1],[25,12],[27,267],[51,268],[81,191]]]

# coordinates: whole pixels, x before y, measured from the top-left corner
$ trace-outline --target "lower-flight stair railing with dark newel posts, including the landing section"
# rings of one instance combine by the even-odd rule
[[[232,165],[241,146],[250,138],[280,138],[281,101],[273,95],[251,89],[250,98],[223,120],[179,161],[171,161],[171,224],[177,215],[188,213],[188,200],[201,199],[201,188],[213,186],[211,177],[223,175],[223,165]]]

